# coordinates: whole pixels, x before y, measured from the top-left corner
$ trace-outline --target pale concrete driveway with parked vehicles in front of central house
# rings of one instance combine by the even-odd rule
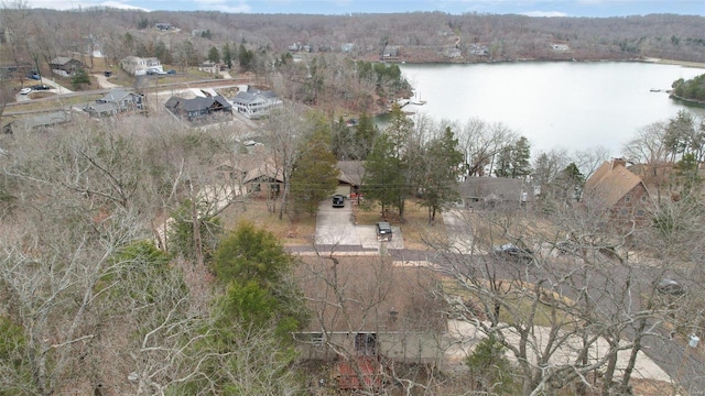
[[[318,207],[316,217],[316,244],[333,246],[362,246],[364,249],[404,249],[399,227],[392,226],[392,240],[377,240],[375,226],[357,226],[352,216],[352,205],[346,198],[344,208],[334,208],[326,199]]]

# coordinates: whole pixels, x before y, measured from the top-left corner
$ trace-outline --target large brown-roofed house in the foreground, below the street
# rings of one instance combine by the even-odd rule
[[[447,321],[435,274],[383,256],[303,256],[297,282],[312,312],[295,333],[302,359],[335,362],[341,388],[380,384],[398,363],[437,364]]]

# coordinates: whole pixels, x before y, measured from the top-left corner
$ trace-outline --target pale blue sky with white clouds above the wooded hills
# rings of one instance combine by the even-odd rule
[[[626,16],[649,13],[705,15],[705,0],[29,0],[33,8],[108,6],[148,11],[234,13],[388,13],[442,11],[546,16]]]

